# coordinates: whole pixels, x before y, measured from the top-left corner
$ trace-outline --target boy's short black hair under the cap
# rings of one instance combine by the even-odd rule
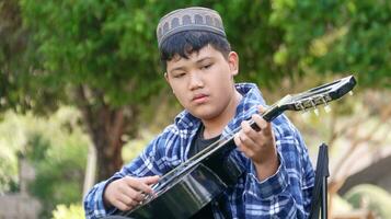
[[[188,58],[193,53],[198,53],[205,46],[210,45],[220,51],[225,58],[231,51],[231,46],[226,37],[206,31],[185,31],[176,33],[166,38],[160,46],[160,60],[166,67],[166,61],[172,60],[176,55]]]

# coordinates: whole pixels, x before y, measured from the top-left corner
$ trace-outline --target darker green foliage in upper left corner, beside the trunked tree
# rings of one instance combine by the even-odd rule
[[[60,84],[46,80],[32,34],[22,27],[19,0],[0,1],[0,112],[45,114],[65,99]],[[58,89],[54,89],[59,87]]]

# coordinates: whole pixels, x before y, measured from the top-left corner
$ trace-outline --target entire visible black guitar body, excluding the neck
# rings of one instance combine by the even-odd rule
[[[229,158],[233,141],[196,165],[171,173],[166,181],[153,188],[156,196],[147,198],[138,208],[117,215],[136,218],[186,219],[234,184],[241,169]],[[218,165],[216,165],[218,164]]]

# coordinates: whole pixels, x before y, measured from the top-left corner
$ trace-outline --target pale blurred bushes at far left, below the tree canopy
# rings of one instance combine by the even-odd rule
[[[16,154],[22,153],[36,172],[28,191],[43,204],[42,217],[57,204],[80,201],[89,139],[79,120],[78,112],[69,107],[47,119],[7,113],[0,124],[0,157],[8,158],[0,165],[7,180],[0,184],[2,192],[11,192],[10,182],[19,184]]]

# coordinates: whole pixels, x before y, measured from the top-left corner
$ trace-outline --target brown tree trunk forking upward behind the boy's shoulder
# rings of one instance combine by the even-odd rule
[[[124,141],[122,136],[126,125],[136,118],[136,106],[111,108],[104,104],[103,97],[96,91],[80,87],[78,90],[79,108],[83,113],[83,119],[89,129],[91,140],[96,149],[97,182],[107,180],[123,166],[122,149]],[[94,104],[89,104],[89,94],[93,95]],[[96,104],[96,100],[99,104]]]

